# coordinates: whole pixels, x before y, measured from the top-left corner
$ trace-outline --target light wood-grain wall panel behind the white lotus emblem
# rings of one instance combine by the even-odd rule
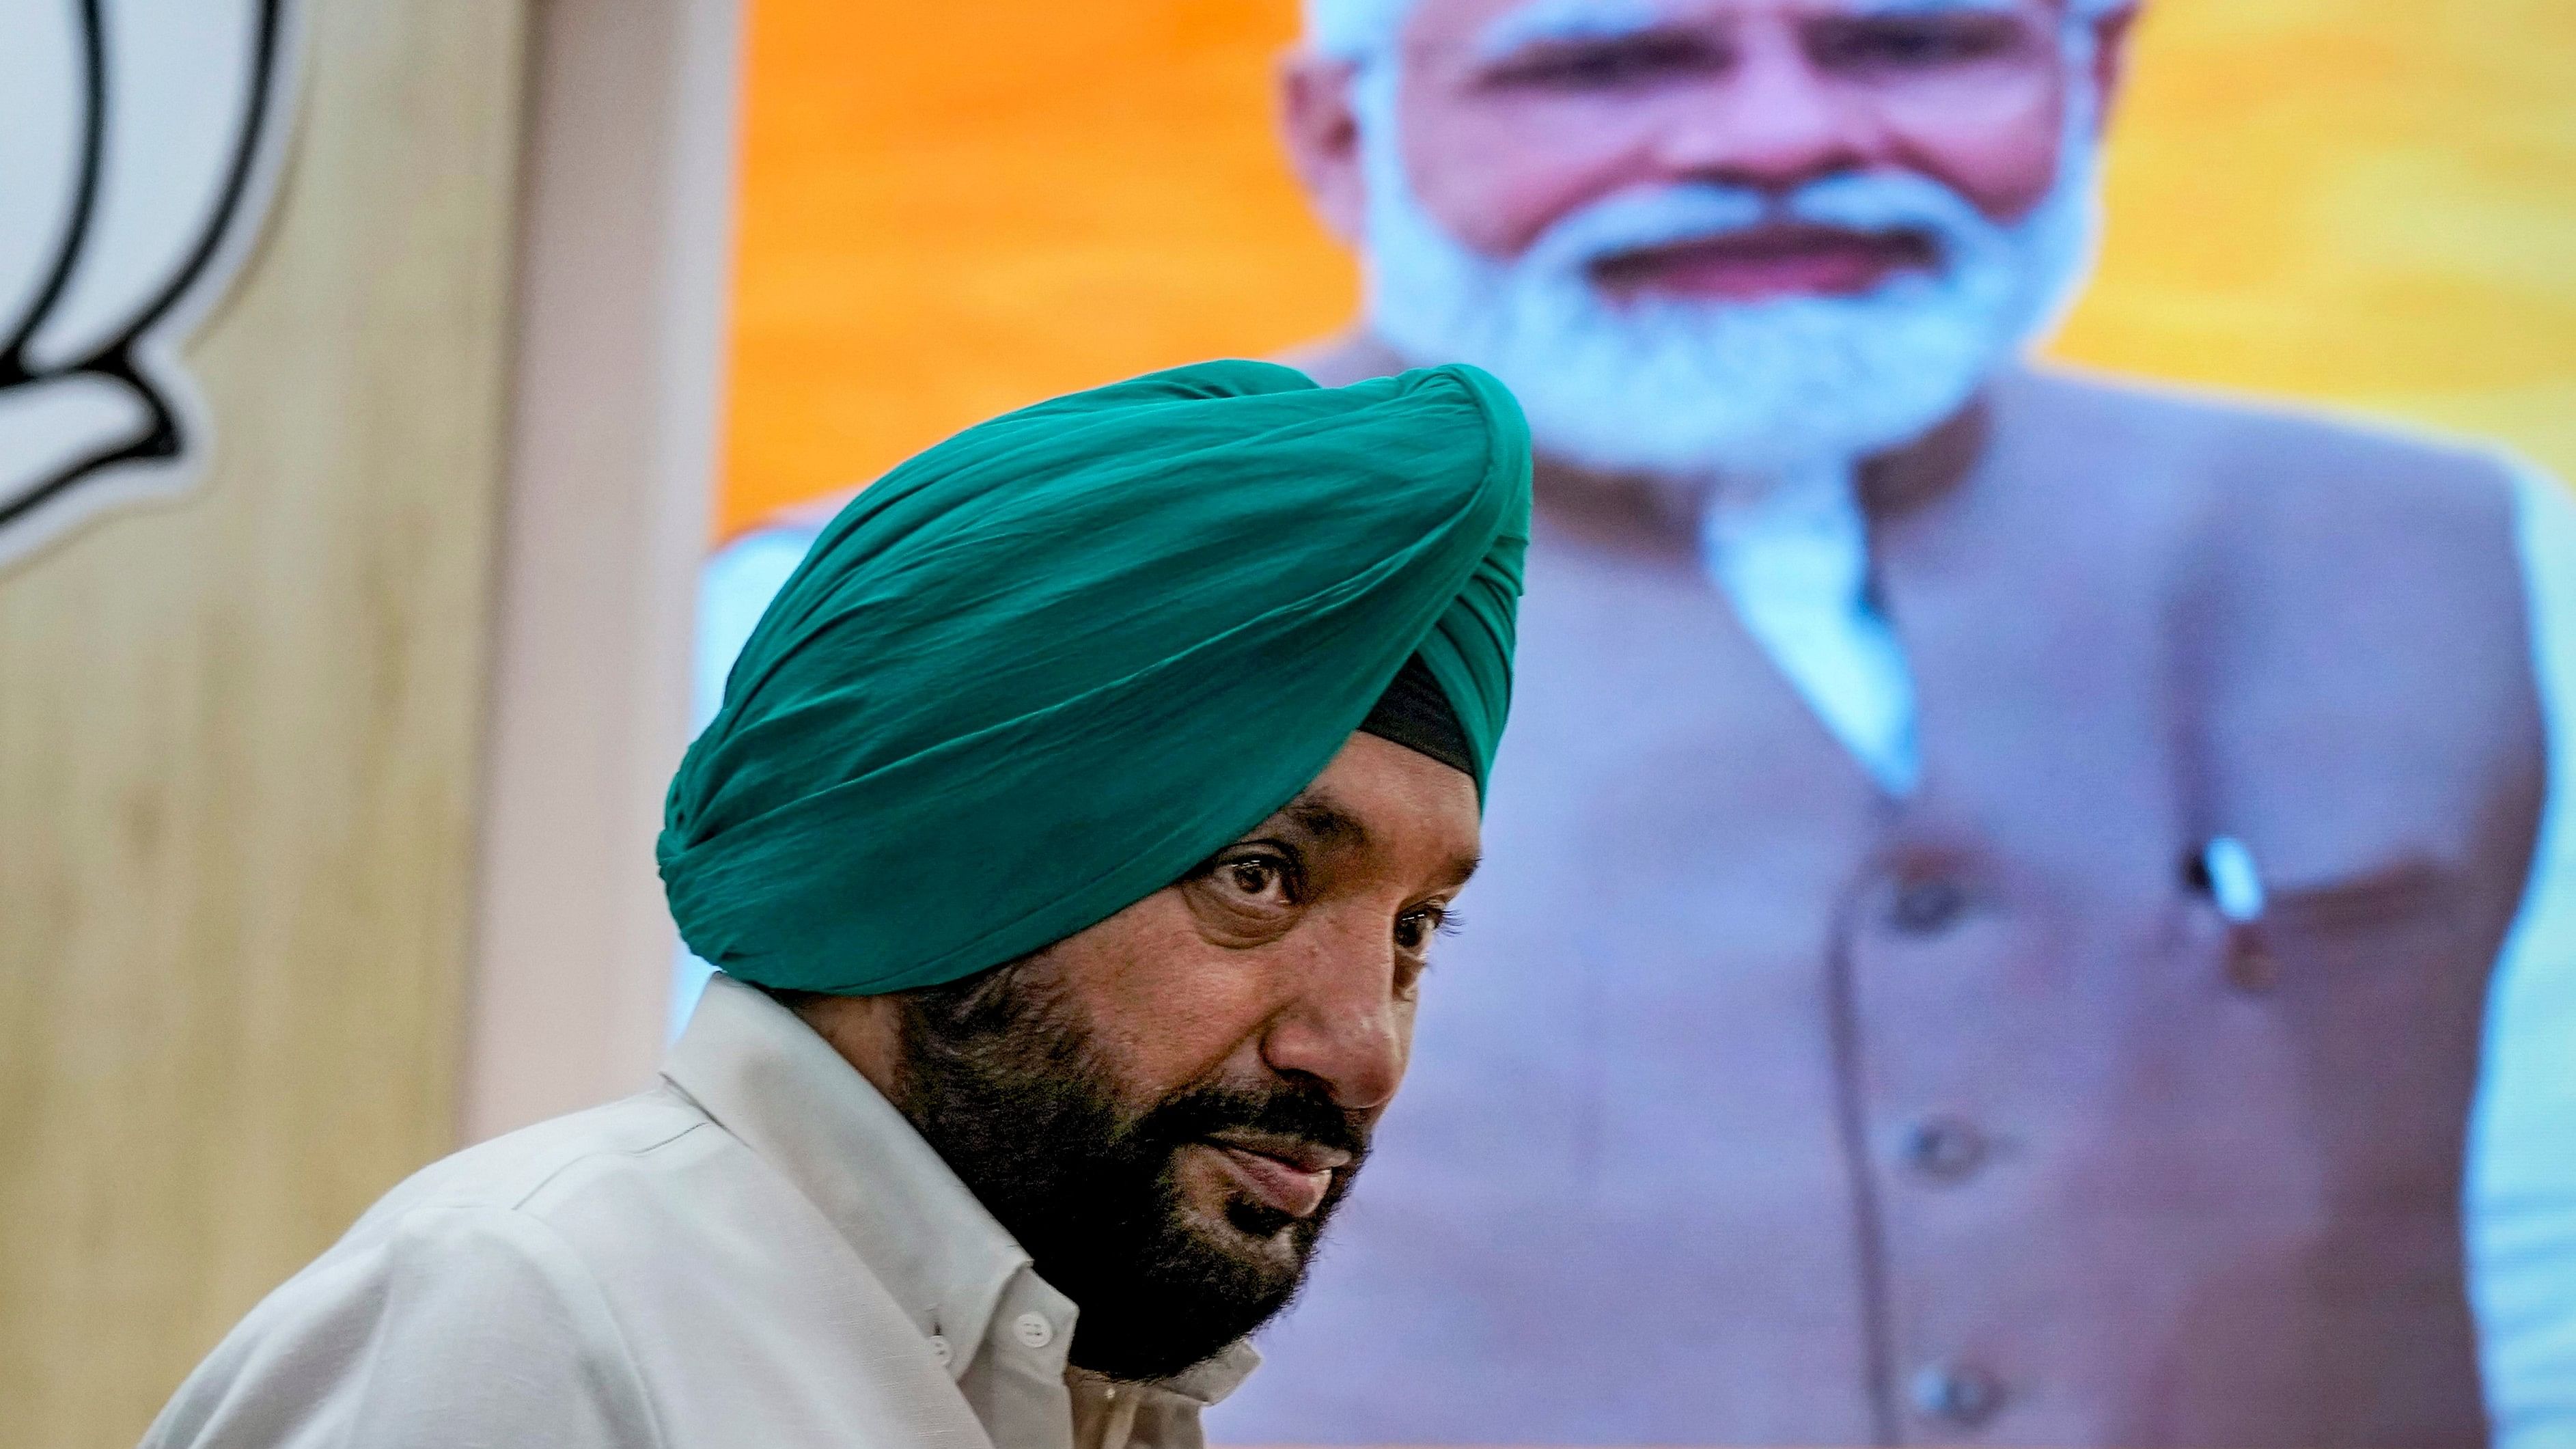
[[[456,1137],[523,0],[317,0],[188,498],[0,575],[0,1439]]]

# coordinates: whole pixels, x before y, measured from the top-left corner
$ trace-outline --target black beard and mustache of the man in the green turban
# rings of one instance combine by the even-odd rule
[[[1113,1379],[1164,1379],[1236,1343],[1296,1297],[1324,1220],[1368,1150],[1365,1119],[1324,1083],[1190,1083],[1133,1111],[1079,1013],[1015,962],[904,993],[896,1106],[1074,1299],[1069,1359]],[[1221,1129],[1303,1137],[1352,1155],[1311,1217],[1234,1199],[1226,1222],[1285,1240],[1293,1263],[1193,1222],[1175,1155]]]

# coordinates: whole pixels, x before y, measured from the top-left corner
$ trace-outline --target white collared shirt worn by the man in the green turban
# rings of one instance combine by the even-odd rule
[[[1072,1336],[912,1124],[719,980],[657,1088],[397,1186],[144,1449],[1200,1449],[1257,1364],[1108,1385]]]

